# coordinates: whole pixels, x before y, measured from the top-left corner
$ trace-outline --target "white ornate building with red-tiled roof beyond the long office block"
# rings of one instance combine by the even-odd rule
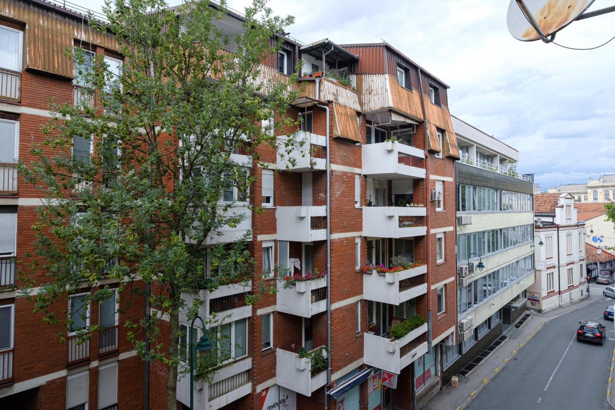
[[[574,199],[569,193],[534,196],[536,282],[527,295],[528,306],[542,312],[589,296],[585,287],[585,223],[577,220]]]

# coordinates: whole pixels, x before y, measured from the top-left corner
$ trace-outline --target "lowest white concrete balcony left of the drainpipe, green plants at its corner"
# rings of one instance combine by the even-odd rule
[[[322,346],[321,346],[322,347]],[[314,349],[317,350],[320,347]],[[314,352],[312,350],[312,352]],[[326,350],[322,350],[327,355]],[[276,350],[276,380],[277,384],[304,396],[327,384],[327,370],[312,375],[312,363],[309,358],[300,358],[297,353],[278,348]]]

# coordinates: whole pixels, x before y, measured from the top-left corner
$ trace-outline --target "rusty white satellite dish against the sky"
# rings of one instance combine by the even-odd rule
[[[521,41],[553,41],[555,33],[580,17],[593,1],[510,0],[506,17],[508,31]]]

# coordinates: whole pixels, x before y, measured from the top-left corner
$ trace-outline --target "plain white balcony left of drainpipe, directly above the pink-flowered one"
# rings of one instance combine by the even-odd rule
[[[326,206],[279,206],[276,209],[279,241],[312,242],[327,239]]]

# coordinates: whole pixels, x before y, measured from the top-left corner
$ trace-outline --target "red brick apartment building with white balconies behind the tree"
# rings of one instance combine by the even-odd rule
[[[229,12],[220,25],[234,30],[240,20]],[[61,329],[43,324],[12,290],[15,260],[33,250],[39,204],[14,161],[27,160],[31,143],[43,140],[48,97],[78,100],[73,65],[60,54],[79,42],[120,58],[113,38],[83,22],[46,1],[0,0],[0,47],[10,41],[14,54],[0,62],[0,285],[8,289],[0,291],[0,408],[163,409],[167,371],[153,364],[145,372],[122,326],[85,347],[56,344]],[[230,315],[207,329],[229,336],[230,358],[211,384],[195,383],[195,408],[416,408],[440,387],[440,347],[455,342],[459,151],[448,86],[389,44],[327,39],[285,39],[261,75],[287,81],[299,59],[306,87],[288,115],[303,118],[300,136],[312,150],[301,156],[298,148],[287,169],[276,150],[261,148],[265,164],[252,161],[258,180],[249,202],[236,204],[248,218],[208,241],[231,242],[251,230],[256,265],[245,286],[199,291],[202,316]],[[248,204],[265,211],[252,214]],[[410,266],[392,269],[401,257]],[[244,292],[276,280],[269,275],[276,265],[328,275],[280,285],[246,305]],[[113,325],[142,315],[143,301],[133,302]],[[108,315],[93,306],[90,322],[99,321]],[[180,321],[188,327],[185,315]],[[300,357],[301,348],[311,358]],[[393,380],[379,383],[387,374],[395,375],[391,387]],[[189,388],[188,377],[179,380],[178,408],[188,408]]]

